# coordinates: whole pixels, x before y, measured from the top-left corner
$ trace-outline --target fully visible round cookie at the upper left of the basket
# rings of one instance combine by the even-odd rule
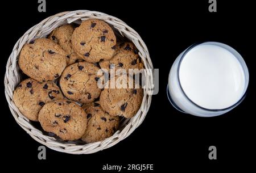
[[[19,66],[23,73],[39,82],[59,78],[67,65],[67,53],[53,41],[41,38],[25,44]]]

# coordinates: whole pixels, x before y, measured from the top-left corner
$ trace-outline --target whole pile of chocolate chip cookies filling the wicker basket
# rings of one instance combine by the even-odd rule
[[[118,130],[119,117],[138,112],[143,98],[142,88],[98,87],[99,71],[113,66],[128,72],[143,69],[143,62],[134,44],[117,41],[107,23],[89,19],[78,27],[60,26],[20,51],[19,67],[29,78],[15,89],[14,103],[27,119],[39,121],[48,136],[104,140]],[[127,74],[111,76],[123,77],[133,81]]]

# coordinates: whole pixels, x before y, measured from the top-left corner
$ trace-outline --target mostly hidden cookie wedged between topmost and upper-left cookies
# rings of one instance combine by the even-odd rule
[[[73,31],[74,27],[71,24],[65,24],[53,29],[51,34],[48,36],[49,39],[59,44],[60,47],[68,53],[68,65],[82,60],[82,58],[77,56],[75,50],[72,48],[71,37]]]

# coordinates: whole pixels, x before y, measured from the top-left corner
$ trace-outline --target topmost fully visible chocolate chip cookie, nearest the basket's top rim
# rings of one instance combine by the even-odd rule
[[[87,62],[110,60],[114,55],[115,44],[113,29],[98,19],[85,20],[72,35],[73,48]]]

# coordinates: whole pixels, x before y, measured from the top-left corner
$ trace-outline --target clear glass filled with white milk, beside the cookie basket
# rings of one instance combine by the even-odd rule
[[[195,116],[222,115],[245,98],[249,72],[242,56],[223,43],[184,50],[171,67],[167,95],[176,109]]]

